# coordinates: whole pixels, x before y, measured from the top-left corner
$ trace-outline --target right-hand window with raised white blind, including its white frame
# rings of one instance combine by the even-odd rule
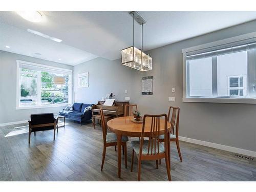
[[[256,33],[184,49],[183,58],[183,101],[256,103]]]

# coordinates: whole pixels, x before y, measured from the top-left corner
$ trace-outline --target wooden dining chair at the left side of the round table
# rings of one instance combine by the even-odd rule
[[[106,127],[106,122],[105,122],[102,108],[99,111],[100,111],[101,127],[102,127],[102,134],[103,134],[103,153],[102,153],[102,162],[101,162],[101,169],[100,169],[100,170],[102,170],[104,161],[105,161],[106,147],[116,146],[117,145],[117,137],[116,137],[116,134],[114,134],[114,133],[107,133],[107,127]],[[127,147],[126,147],[127,141],[128,141],[128,137],[122,136],[121,145],[123,147],[125,168],[127,168]]]

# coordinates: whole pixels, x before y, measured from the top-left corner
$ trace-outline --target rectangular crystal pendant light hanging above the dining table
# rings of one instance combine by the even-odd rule
[[[133,46],[123,49],[122,53],[122,65],[137,69],[139,71],[152,70],[152,57],[143,52],[143,24],[144,19],[136,12],[130,13],[133,16]],[[137,22],[141,25],[141,50],[134,47],[134,16],[136,14]]]

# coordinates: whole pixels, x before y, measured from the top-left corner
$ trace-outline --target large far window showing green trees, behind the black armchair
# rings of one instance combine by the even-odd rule
[[[69,104],[71,73],[71,70],[17,60],[17,109]],[[55,77],[65,81],[55,84]]]

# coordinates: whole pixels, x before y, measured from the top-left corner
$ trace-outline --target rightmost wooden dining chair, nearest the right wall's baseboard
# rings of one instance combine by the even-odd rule
[[[172,112],[172,118],[170,118],[171,112]],[[176,142],[177,150],[180,157],[180,162],[182,162],[180,144],[179,144],[179,119],[180,119],[180,108],[177,108],[175,106],[170,106],[168,111],[168,121],[170,122],[170,142]],[[164,135],[160,135],[159,139],[160,139],[160,142],[164,142]],[[161,164],[161,160],[159,164]]]

